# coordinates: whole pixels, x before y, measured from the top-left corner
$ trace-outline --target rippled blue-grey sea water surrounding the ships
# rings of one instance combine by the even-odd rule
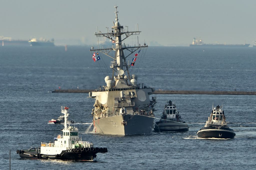
[[[148,47],[132,74],[155,89],[255,91],[256,49]],[[249,95],[152,95],[156,117],[168,100],[176,103],[185,133],[113,136],[86,133],[94,101],[88,94],[51,93],[58,89],[96,89],[110,75],[110,59],[96,63],[88,47],[0,47],[0,169],[254,169],[256,98]],[[132,57],[131,57],[132,58]],[[131,61],[131,59],[129,59]],[[103,64],[106,62],[106,65]],[[102,66],[104,69],[99,69]],[[136,67],[139,66],[140,68]],[[198,139],[214,106],[223,103],[233,140]],[[69,106],[83,140],[107,147],[94,161],[20,159],[17,149],[53,140],[63,125],[48,124]]]

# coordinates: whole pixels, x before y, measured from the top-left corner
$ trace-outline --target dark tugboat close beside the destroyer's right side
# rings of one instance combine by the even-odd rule
[[[188,125],[181,119],[179,112],[177,112],[176,105],[169,100],[167,104],[165,104],[165,109],[160,121],[155,123],[154,130],[156,132],[186,132],[188,131]]]

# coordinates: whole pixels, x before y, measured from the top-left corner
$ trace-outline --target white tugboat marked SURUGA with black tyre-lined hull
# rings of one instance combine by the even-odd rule
[[[64,114],[65,124],[61,129],[62,135],[58,135],[54,142],[43,143],[41,147],[28,150],[17,150],[20,158],[30,159],[60,159],[60,160],[93,160],[97,153],[108,152],[107,148],[94,148],[93,144],[82,141],[78,136],[78,128],[67,126],[68,110],[61,107]]]

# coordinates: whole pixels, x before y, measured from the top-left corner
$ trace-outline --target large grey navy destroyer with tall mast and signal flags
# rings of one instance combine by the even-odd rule
[[[156,97],[151,99],[149,95],[154,89],[144,84],[137,84],[137,76],[130,75],[129,72],[129,68],[134,67],[136,58],[131,63],[127,60],[131,54],[138,57],[140,50],[147,45],[138,43],[137,46],[131,46],[123,42],[127,37],[138,35],[141,31],[138,31],[138,25],[137,31],[128,31],[128,28],[125,30],[118,21],[117,7],[115,9],[115,23],[113,22],[112,29],[107,33],[98,30],[95,32],[97,37],[110,39],[113,43],[112,47],[102,49],[92,47],[90,50],[97,60],[99,57],[95,56],[95,52],[101,52],[113,59],[110,63],[112,76],[105,77],[106,85],[89,92],[89,97],[95,99],[91,113],[94,132],[111,135],[150,134],[153,129]],[[115,51],[114,56],[109,53],[112,50]],[[137,50],[138,52],[135,53]],[[137,60],[139,59],[138,57]]]

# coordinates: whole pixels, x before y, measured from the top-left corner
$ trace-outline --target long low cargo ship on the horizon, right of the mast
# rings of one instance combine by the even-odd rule
[[[192,44],[190,47],[249,47],[250,44],[205,44],[203,43],[202,39],[193,38]]]

